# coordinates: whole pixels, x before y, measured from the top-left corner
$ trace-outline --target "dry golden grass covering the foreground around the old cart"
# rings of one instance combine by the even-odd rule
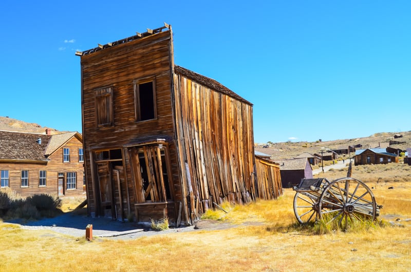
[[[382,216],[411,218],[411,183],[373,190]],[[2,271],[408,271],[411,226],[313,235],[295,224],[294,192],[245,206],[226,203],[210,217],[233,223],[223,230],[197,230],[135,240],[84,239],[0,223]],[[398,201],[396,201],[398,200]],[[407,206],[408,205],[408,206]],[[403,223],[403,221],[400,221]]]

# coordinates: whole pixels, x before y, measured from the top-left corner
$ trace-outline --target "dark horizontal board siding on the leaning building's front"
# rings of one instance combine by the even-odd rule
[[[126,213],[133,213],[137,199],[128,147],[153,135],[171,139],[169,152],[173,168],[173,198],[181,201],[176,146],[173,142],[171,46],[171,31],[164,31],[81,57],[83,139],[90,213],[96,212],[98,205],[97,169],[90,160],[92,154],[98,150],[122,149],[126,181],[123,192],[125,195],[128,193],[127,201],[131,204],[125,208],[130,208]],[[138,122],[133,82],[148,76],[155,79],[157,118]],[[107,86],[113,88],[113,122],[99,127],[96,123],[95,89]]]

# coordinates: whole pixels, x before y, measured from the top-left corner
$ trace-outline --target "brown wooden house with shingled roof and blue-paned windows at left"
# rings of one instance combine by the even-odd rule
[[[36,193],[84,196],[82,135],[47,132],[0,131],[1,188],[22,197]]]

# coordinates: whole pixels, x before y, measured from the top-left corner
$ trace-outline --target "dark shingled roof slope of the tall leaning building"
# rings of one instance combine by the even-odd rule
[[[178,65],[174,65],[174,71],[176,73],[182,74],[185,77],[188,77],[189,79],[201,85],[209,87],[210,89],[213,89],[217,92],[221,92],[223,94],[227,94],[228,96],[231,96],[232,98],[237,99],[241,102],[247,103],[249,105],[253,105],[249,101],[245,100],[244,98],[242,98],[241,96],[239,96],[238,94],[236,94],[235,92],[227,88],[226,86],[222,85],[221,83],[213,79],[210,79],[210,77],[198,74],[196,72],[190,71]]]

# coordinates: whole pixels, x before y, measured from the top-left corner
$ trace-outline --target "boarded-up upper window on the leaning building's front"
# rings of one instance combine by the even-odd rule
[[[113,87],[95,90],[96,123],[98,127],[113,124]]]

